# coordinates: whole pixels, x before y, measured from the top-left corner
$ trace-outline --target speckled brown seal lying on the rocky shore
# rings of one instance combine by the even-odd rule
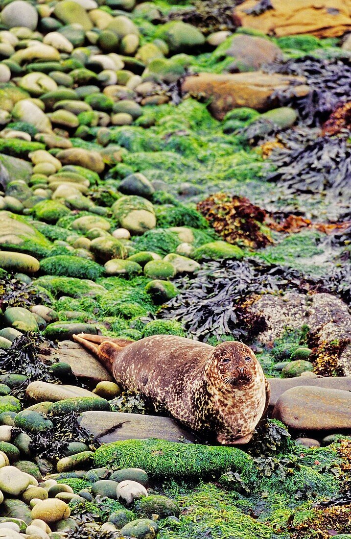
[[[270,389],[262,367],[240,342],[213,347],[173,335],[135,342],[88,334],[73,338],[124,389],[220,444],[247,443],[268,407]]]

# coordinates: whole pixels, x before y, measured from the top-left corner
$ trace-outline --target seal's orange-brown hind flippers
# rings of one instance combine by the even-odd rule
[[[100,360],[100,363],[112,374],[112,366],[116,354],[134,341],[123,338],[103,337],[102,335],[90,335],[80,333],[73,335],[76,342],[92,352]]]

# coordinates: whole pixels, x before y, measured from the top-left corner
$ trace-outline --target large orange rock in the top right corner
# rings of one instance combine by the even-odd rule
[[[273,9],[255,15],[247,11],[257,0],[246,0],[236,6],[234,18],[242,26],[277,37],[305,33],[338,37],[351,30],[351,0],[271,0],[271,4]]]

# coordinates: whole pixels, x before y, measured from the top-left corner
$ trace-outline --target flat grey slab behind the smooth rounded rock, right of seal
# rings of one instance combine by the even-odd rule
[[[304,376],[297,376],[296,378],[269,378],[269,385],[271,388],[269,410],[272,411],[277,404],[279,397],[288,389],[296,388],[298,386],[313,385],[317,388],[351,391],[351,377],[335,376],[332,378],[305,378]]]

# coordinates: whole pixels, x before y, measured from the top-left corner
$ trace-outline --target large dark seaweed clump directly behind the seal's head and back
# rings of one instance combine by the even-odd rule
[[[253,337],[262,331],[263,320],[245,315],[243,304],[249,296],[291,288],[308,292],[315,286],[295,269],[254,259],[208,262],[196,279],[175,284],[183,292],[167,303],[160,316],[182,321],[188,335],[200,341],[210,335]]]

